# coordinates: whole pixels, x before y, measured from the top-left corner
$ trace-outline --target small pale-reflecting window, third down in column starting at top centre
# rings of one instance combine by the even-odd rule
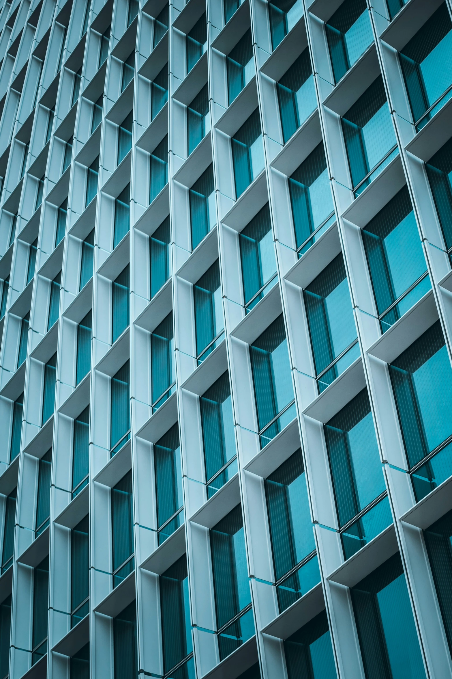
[[[258,108],[231,137],[230,143],[234,164],[235,194],[236,198],[239,198],[265,166]]]

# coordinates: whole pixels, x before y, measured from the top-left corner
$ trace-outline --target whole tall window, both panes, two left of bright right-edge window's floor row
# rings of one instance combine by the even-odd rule
[[[281,613],[321,581],[302,449],[270,474],[264,485]]]

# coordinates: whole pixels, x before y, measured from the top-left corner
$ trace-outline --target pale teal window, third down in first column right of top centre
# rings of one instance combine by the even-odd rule
[[[327,160],[320,143],[289,177],[289,193],[297,249],[334,218],[333,196],[329,186]]]

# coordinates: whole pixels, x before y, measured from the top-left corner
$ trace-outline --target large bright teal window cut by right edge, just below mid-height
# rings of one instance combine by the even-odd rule
[[[452,474],[452,369],[439,320],[389,366],[416,501]]]

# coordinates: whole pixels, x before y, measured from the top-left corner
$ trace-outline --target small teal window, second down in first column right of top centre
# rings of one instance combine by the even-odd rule
[[[284,141],[317,108],[314,76],[312,75],[309,50],[306,48],[276,84],[283,126]]]

